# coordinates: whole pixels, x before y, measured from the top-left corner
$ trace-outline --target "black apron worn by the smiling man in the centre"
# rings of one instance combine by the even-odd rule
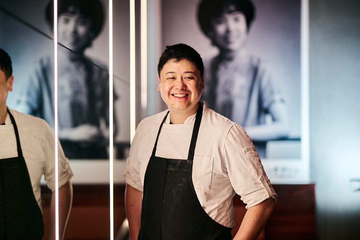
[[[144,178],[139,240],[230,240],[231,228],[214,221],[202,208],[196,195],[192,167],[202,117],[199,104],[188,159],[155,156],[156,137]]]

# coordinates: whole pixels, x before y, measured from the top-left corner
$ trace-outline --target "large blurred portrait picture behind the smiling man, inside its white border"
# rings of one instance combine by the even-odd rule
[[[162,45],[199,51],[207,106],[243,126],[261,158],[300,158],[301,1],[162,3]]]

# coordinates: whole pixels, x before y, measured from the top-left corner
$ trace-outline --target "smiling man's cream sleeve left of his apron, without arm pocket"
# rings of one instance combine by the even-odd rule
[[[143,191],[143,185],[140,179],[140,170],[139,170],[139,162],[138,162],[139,134],[140,134],[139,132],[141,132],[140,124],[136,129],[134,139],[132,140],[129,157],[126,159],[124,177],[127,184],[129,184],[130,186],[134,187],[139,191]]]

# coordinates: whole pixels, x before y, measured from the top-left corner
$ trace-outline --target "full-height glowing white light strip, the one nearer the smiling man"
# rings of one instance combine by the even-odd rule
[[[109,0],[109,184],[110,240],[114,239],[113,5]]]

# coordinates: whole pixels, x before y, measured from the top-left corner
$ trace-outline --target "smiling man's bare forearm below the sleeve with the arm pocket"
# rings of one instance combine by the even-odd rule
[[[244,216],[234,240],[255,240],[264,228],[267,220],[275,207],[273,198],[266,199],[261,203],[250,207]]]

